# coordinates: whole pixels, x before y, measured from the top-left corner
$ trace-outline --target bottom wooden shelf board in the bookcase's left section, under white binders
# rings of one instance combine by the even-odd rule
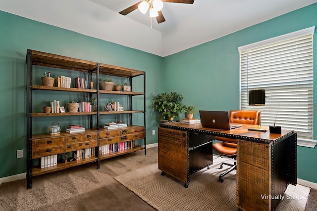
[[[62,170],[62,169],[68,169],[71,167],[75,167],[75,166],[79,166],[79,165],[83,165],[87,163],[92,163],[96,161],[97,161],[97,157],[93,157],[93,158],[85,158],[78,161],[71,161],[67,163],[58,163],[57,166],[43,168],[43,169],[41,169],[39,166],[36,166],[36,167],[33,167],[33,176],[38,176],[41,174],[50,173],[50,172],[54,172],[54,171]]]

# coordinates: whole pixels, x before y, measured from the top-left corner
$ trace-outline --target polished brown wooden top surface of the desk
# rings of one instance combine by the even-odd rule
[[[293,130],[284,130],[284,129],[282,129],[281,134],[270,133],[268,126],[261,126],[261,129],[267,130],[266,132],[248,130],[248,128],[257,128],[258,126],[256,125],[242,125],[242,127],[238,127],[231,130],[202,127],[200,123],[187,125],[187,124],[182,124],[180,122],[175,122],[175,123],[163,123],[163,124],[160,124],[160,126],[182,129],[182,130],[187,130],[192,132],[199,132],[204,134],[210,134],[214,136],[222,136],[227,138],[236,138],[236,139],[243,139],[243,140],[249,140],[254,142],[272,143],[272,144],[276,144],[278,141],[283,140],[286,137],[289,137],[295,133],[295,131]]]

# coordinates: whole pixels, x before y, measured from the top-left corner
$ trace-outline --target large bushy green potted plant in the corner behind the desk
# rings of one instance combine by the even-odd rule
[[[181,94],[176,92],[163,92],[153,99],[151,108],[159,112],[158,120],[173,121],[174,118],[178,118],[178,112],[182,109],[180,101],[183,98]]]

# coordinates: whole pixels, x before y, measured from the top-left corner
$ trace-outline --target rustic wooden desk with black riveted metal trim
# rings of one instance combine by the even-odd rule
[[[191,158],[190,147],[195,141],[191,141],[189,134],[202,135],[203,141],[200,143],[207,142],[206,139],[213,140],[210,139],[212,136],[236,138],[237,207],[244,211],[273,211],[287,185],[297,184],[297,134],[291,130],[282,130],[282,134],[271,134],[268,128],[266,132],[250,131],[250,127],[255,126],[243,125],[232,130],[220,130],[202,127],[201,124],[160,124],[159,169],[181,181],[184,181],[184,176],[179,175],[186,174],[188,183],[189,175],[206,165],[201,157],[198,159],[201,165],[196,166],[196,171],[192,169],[191,161],[196,159]],[[204,155],[212,157],[210,143],[199,148]],[[199,153],[193,156],[197,154]],[[264,196],[267,196],[266,199],[263,199]]]

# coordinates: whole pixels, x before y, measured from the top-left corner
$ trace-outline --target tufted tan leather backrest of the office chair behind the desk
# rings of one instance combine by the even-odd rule
[[[238,110],[230,111],[230,123],[240,123],[248,125],[259,125],[261,121],[261,111]],[[216,139],[223,142],[237,143],[236,139],[216,136]]]

